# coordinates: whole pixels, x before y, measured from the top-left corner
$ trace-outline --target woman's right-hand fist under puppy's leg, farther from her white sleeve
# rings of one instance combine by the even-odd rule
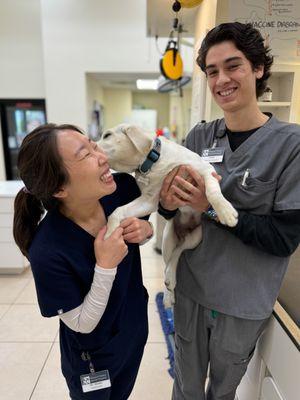
[[[123,228],[123,239],[128,243],[142,243],[153,234],[148,221],[135,217],[123,219],[120,227]]]

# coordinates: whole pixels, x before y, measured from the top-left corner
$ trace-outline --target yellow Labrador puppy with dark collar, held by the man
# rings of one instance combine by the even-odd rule
[[[159,193],[166,175],[176,166],[191,165],[203,177],[206,196],[222,224],[235,226],[237,211],[224,198],[218,180],[212,176],[215,169],[198,154],[164,137],[153,135],[133,125],[118,125],[103,133],[99,146],[106,152],[110,166],[120,172],[135,173],[141,196],[117,208],[108,219],[109,236],[120,222],[127,217],[143,217],[157,210]],[[201,241],[201,215],[190,207],[168,221],[163,234],[162,253],[166,265],[164,303],[174,304],[176,267],[181,252],[192,249]],[[188,226],[184,238],[176,235],[175,228]],[[180,235],[182,236],[182,235]]]

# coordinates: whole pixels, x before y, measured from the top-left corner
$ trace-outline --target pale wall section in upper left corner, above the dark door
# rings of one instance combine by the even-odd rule
[[[39,0],[0,2],[0,98],[44,98]]]

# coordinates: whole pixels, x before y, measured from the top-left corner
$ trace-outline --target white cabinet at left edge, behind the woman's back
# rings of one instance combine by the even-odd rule
[[[20,273],[29,265],[12,233],[14,199],[23,186],[21,181],[0,182],[0,274]]]

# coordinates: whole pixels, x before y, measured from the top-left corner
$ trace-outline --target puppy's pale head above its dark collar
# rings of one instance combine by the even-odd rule
[[[105,151],[111,168],[133,172],[149,153],[152,137],[142,128],[121,124],[105,131],[98,144]]]

